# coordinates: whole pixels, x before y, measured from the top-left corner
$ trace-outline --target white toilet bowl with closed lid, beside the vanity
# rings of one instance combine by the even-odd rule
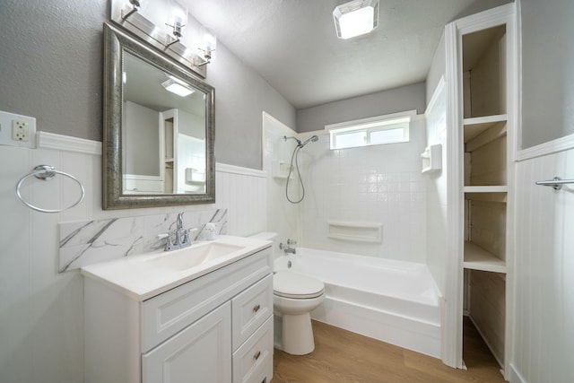
[[[285,353],[305,355],[315,350],[310,312],[325,300],[325,285],[309,275],[281,271],[273,277],[275,314],[281,316]]]

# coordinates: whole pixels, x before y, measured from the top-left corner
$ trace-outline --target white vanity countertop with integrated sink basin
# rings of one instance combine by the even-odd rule
[[[81,273],[87,278],[109,285],[133,300],[141,301],[248,257],[257,251],[268,248],[271,243],[263,239],[222,235],[213,241],[198,242],[188,248],[156,251],[87,265],[82,267]],[[181,256],[185,256],[186,252],[195,252],[210,245],[219,248],[228,247],[230,252],[213,259],[207,259],[203,263],[191,267],[174,267],[171,265],[173,262],[163,262],[168,259],[167,257],[172,257],[179,265],[181,262],[176,257],[182,258]]]

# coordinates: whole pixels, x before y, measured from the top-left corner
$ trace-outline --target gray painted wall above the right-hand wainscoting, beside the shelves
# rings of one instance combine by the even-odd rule
[[[574,2],[521,0],[522,149],[574,134]]]

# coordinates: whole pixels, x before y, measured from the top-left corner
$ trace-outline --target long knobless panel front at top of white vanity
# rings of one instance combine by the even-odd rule
[[[141,304],[142,353],[270,274],[271,248],[226,265]]]

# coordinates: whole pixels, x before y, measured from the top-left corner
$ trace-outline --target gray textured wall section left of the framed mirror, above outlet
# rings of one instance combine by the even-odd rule
[[[107,1],[0,1],[0,110],[38,130],[101,141]]]

